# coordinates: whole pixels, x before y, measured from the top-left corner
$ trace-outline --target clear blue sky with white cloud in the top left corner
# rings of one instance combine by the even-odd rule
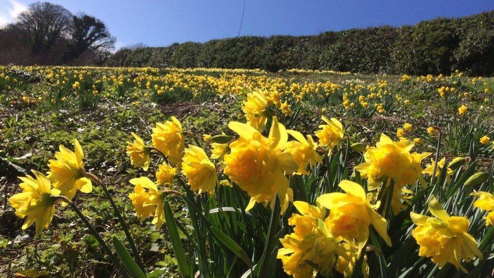
[[[35,1],[0,0],[0,25]],[[238,34],[243,0],[53,0],[103,20],[117,47],[167,46]],[[462,17],[494,10],[493,0],[245,0],[240,35],[318,34]]]

